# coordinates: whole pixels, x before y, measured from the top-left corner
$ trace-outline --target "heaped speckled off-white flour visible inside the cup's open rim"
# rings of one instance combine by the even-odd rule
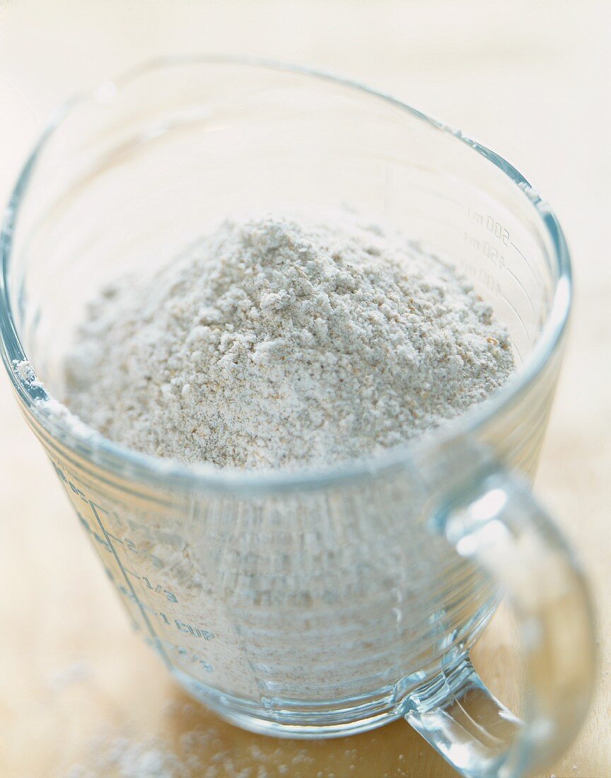
[[[108,438],[240,468],[375,453],[486,398],[514,362],[465,279],[352,220],[228,220],[93,301],[66,404]]]

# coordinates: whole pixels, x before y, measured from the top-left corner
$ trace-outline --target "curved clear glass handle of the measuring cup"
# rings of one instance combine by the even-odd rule
[[[564,538],[528,485],[488,476],[440,527],[486,569],[514,608],[525,657],[522,719],[483,685],[464,654],[406,699],[406,720],[463,776],[518,778],[543,769],[577,734],[592,696],[592,601]]]

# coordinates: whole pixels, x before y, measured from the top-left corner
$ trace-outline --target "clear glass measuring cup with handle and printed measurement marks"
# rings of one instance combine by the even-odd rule
[[[312,207],[366,213],[456,261],[509,328],[507,387],[376,459],[271,475],[142,456],[58,410],[66,343],[105,282],[154,272],[227,214]],[[591,609],[527,482],[570,267],[514,168],[339,79],[160,61],[58,114],[6,212],[2,260],[2,352],[26,421],[133,625],[191,693],[290,737],[405,717],[465,776],[521,776],[567,745],[592,691]],[[469,661],[501,593],[523,628],[521,720]]]

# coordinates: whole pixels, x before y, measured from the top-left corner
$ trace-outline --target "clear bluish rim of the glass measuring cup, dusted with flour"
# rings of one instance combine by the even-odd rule
[[[423,436],[406,443],[399,443],[379,454],[367,457],[349,459],[338,464],[318,467],[300,466],[298,468],[278,468],[275,470],[256,470],[241,468],[220,468],[209,463],[182,464],[178,461],[163,459],[114,443],[100,433],[93,433],[83,423],[75,424],[69,412],[51,413],[49,405],[58,408],[51,394],[44,390],[36,379],[35,366],[27,376],[17,369],[18,363],[28,361],[21,344],[16,324],[12,315],[9,297],[9,265],[12,252],[12,233],[19,213],[19,204],[26,192],[31,173],[36,165],[37,157],[44,149],[47,140],[61,126],[62,121],[82,103],[100,103],[104,89],[104,100],[107,101],[108,86],[118,90],[127,86],[141,75],[149,74],[163,68],[177,65],[236,65],[245,68],[267,68],[276,71],[295,72],[311,76],[314,79],[334,82],[347,89],[383,100],[398,107],[406,113],[423,121],[444,135],[451,135],[458,142],[465,143],[473,152],[483,156],[496,166],[518,187],[536,210],[550,237],[553,247],[553,261],[557,272],[557,282],[553,290],[553,301],[547,316],[543,331],[536,342],[531,356],[521,369],[507,380],[504,386],[497,389],[493,396],[467,409],[455,419],[450,419],[438,429],[430,430]],[[111,98],[112,99],[112,98]],[[564,234],[557,217],[550,206],[540,197],[539,193],[516,168],[502,156],[491,151],[485,145],[472,140],[461,131],[433,119],[422,111],[409,106],[397,98],[382,93],[377,89],[363,85],[353,79],[335,75],[332,72],[321,71],[303,65],[276,61],[265,58],[249,58],[224,54],[201,54],[153,58],[143,61],[127,72],[124,72],[110,82],[102,82],[94,89],[73,96],[51,114],[47,126],[34,145],[30,156],[19,173],[12,195],[9,199],[2,219],[0,230],[0,258],[2,274],[0,274],[0,341],[2,342],[2,359],[12,380],[19,401],[29,412],[38,425],[58,440],[68,450],[97,468],[110,471],[119,478],[130,478],[149,485],[164,485],[171,488],[188,489],[191,491],[245,491],[261,492],[277,489],[304,488],[307,486],[319,488],[332,482],[358,479],[363,475],[372,475],[395,468],[406,467],[409,463],[418,461],[431,451],[446,447],[460,437],[476,433],[486,425],[494,415],[497,415],[528,391],[540,371],[556,350],[564,331],[571,308],[572,274],[571,257]],[[49,403],[51,401],[51,403]],[[65,410],[65,409],[64,409]]]

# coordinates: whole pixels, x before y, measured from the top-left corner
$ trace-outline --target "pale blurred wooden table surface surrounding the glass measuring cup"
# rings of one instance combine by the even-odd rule
[[[536,490],[588,571],[600,636],[592,712],[551,770],[563,778],[611,776],[609,8],[593,0],[0,0],[2,198],[44,117],[74,89],[151,54],[231,51],[310,63],[395,93],[497,149],[553,203],[577,296]],[[2,778],[162,776],[160,753],[181,759],[184,773],[169,773],[181,776],[454,774],[406,724],[278,741],[191,703],[130,632],[5,379],[0,430]],[[510,703],[511,643],[499,615],[477,657]],[[96,768],[100,755],[106,766]],[[146,759],[148,771],[128,772],[128,762],[142,768]]]

